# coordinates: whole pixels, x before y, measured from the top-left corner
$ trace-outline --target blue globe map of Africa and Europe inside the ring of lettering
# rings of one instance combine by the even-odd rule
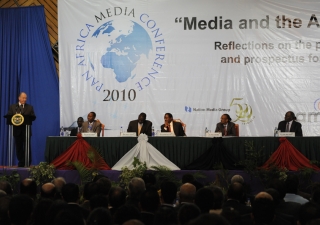
[[[134,21],[115,23],[111,20],[102,24],[92,35],[99,39],[104,47],[100,63],[104,68],[110,68],[115,79],[125,82],[132,76],[142,55],[148,58],[152,43],[145,29]],[[105,45],[104,45],[105,43]]]

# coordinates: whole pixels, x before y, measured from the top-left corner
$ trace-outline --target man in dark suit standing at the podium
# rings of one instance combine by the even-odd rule
[[[33,106],[26,104],[27,102],[27,94],[21,92],[19,95],[19,102],[13,104],[9,107],[9,111],[7,115],[13,116],[17,113],[28,116],[31,120],[36,119],[36,115],[33,111]],[[25,162],[25,141],[26,141],[26,125],[13,126],[13,136],[16,144],[16,152],[18,158],[18,167],[29,166],[31,163],[31,148],[30,148],[30,138],[31,138],[31,130],[29,136],[29,162]]]

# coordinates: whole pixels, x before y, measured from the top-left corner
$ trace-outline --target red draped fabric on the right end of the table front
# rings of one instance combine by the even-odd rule
[[[299,152],[287,138],[280,138],[279,148],[271,155],[267,162],[261,168],[268,169],[270,166],[277,166],[279,168],[287,168],[291,171],[297,171],[301,168],[312,168],[320,170],[319,167],[310,164],[301,152]]]

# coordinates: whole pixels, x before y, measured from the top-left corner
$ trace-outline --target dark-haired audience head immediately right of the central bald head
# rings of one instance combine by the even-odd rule
[[[197,191],[194,203],[200,208],[201,213],[209,213],[213,208],[214,196],[209,188],[201,188]]]

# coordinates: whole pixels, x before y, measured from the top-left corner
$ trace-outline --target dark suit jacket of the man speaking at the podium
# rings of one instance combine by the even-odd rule
[[[9,107],[9,111],[8,111],[7,115],[13,116],[16,113],[20,113],[19,103],[12,104]],[[34,111],[33,111],[33,106],[29,105],[29,104],[24,104],[24,108],[21,110],[21,114],[23,116],[33,117],[32,120],[35,120],[35,118],[36,118],[36,115],[34,114]],[[25,130],[26,130],[25,125],[13,126],[13,136],[17,137],[19,135],[24,135]],[[31,132],[30,132],[30,134],[31,134]]]

